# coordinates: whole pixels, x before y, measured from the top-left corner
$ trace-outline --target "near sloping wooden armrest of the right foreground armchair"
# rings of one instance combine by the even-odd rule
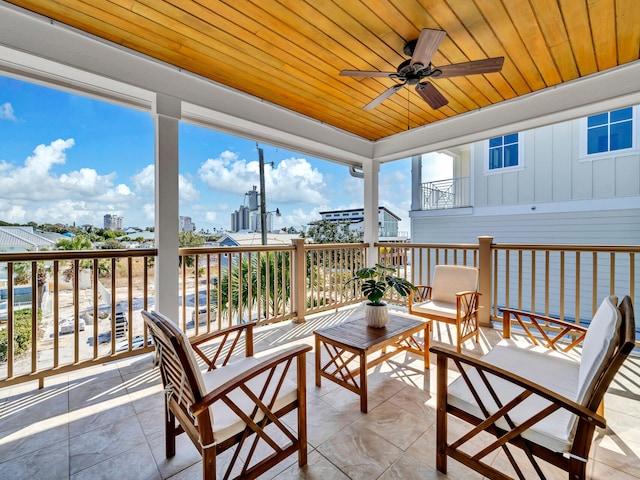
[[[559,405],[560,408],[568,410],[578,417],[590,423],[593,423],[597,427],[605,428],[607,425],[606,420],[596,412],[589,410],[588,408],[574,402],[569,398],[563,397],[556,392],[537,385],[527,380],[526,378],[520,377],[519,375],[511,373],[502,368],[496,367],[495,365],[491,365],[489,363],[483,362],[482,360],[478,360],[466,355],[459,354],[452,350],[446,350],[439,347],[431,347],[429,351],[431,353],[435,353],[439,357],[438,360],[440,360],[440,357],[452,360],[459,370],[462,370],[462,365],[465,364],[479,371],[490,373],[492,375],[495,375],[496,377],[499,377],[507,382],[513,383],[514,385],[523,388],[527,392],[531,392],[531,394],[533,395],[538,395],[555,405]],[[446,363],[444,363],[444,365],[446,366]],[[438,375],[440,375],[440,369],[438,369]],[[444,375],[446,375],[446,371],[444,372]]]

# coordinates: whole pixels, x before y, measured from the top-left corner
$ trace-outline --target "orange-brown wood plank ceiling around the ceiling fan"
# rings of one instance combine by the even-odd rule
[[[574,80],[640,56],[638,0],[9,0],[370,140]],[[436,66],[504,56],[500,73],[435,79],[430,108],[405,87],[362,107],[423,28]]]

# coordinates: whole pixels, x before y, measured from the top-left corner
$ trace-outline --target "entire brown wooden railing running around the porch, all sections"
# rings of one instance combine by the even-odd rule
[[[180,249],[179,326],[198,335],[239,322],[304,317],[363,301],[346,281],[367,244]],[[480,268],[481,319],[508,306],[587,323],[606,295],[640,301],[640,246],[376,244],[378,261],[428,285],[438,264]],[[151,350],[140,311],[153,308],[148,250],[0,253],[0,387]],[[170,295],[171,292],[162,292]],[[405,299],[389,298],[404,303]]]

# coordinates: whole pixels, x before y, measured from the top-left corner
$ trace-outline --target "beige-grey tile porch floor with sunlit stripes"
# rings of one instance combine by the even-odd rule
[[[357,314],[347,309],[304,324],[260,327],[256,351],[313,345],[316,328]],[[446,326],[436,325],[433,337],[451,345]],[[469,342],[465,351],[479,356],[499,338],[499,330],[485,329],[481,342]],[[42,390],[35,383],[0,390],[0,478],[200,479],[199,454],[187,438],[178,441],[176,457],[164,457],[163,395],[151,360],[147,354],[52,377]],[[316,387],[313,362],[307,355],[309,463],[300,469],[292,455],[261,478],[481,478],[453,460],[448,475],[436,471],[433,357],[429,372],[417,356],[404,353],[373,368],[368,414],[360,412],[355,394],[326,380]],[[606,397],[606,418],[607,429],[594,437],[589,478],[639,479],[640,358],[629,359],[618,374]],[[564,478],[558,473],[549,478]]]

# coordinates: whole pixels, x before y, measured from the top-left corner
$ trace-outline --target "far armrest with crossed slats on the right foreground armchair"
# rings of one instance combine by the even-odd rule
[[[514,316],[518,324],[523,328],[527,337],[529,337],[529,340],[531,340],[534,345],[540,345],[540,343],[533,335],[530,326],[535,327],[534,332],[538,332],[540,336],[544,338],[546,344],[543,346],[553,350],[558,350],[558,346],[556,344],[563,337],[571,335],[574,337],[573,341],[562,349],[562,351],[568,352],[574,347],[580,345],[587,334],[586,327],[575,323],[565,322],[564,320],[558,320],[557,318],[547,317],[545,315],[539,315],[532,312],[525,312],[522,310],[515,310],[512,308],[500,308],[499,310],[502,312],[504,338],[511,337],[511,315]],[[525,319],[528,319],[528,321],[525,321]],[[558,329],[558,333],[553,337],[550,337],[547,333],[549,325]]]

